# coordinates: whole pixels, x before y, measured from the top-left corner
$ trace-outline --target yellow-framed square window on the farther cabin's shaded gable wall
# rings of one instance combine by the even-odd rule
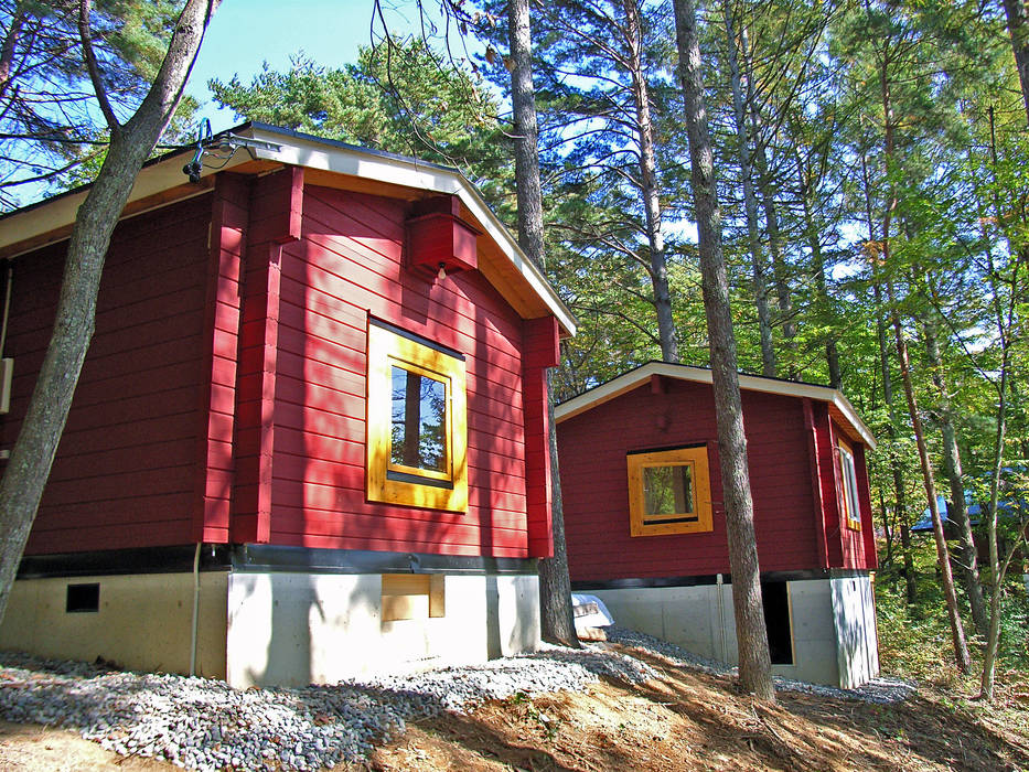
[[[712,529],[707,448],[629,454],[629,519],[633,536]]]

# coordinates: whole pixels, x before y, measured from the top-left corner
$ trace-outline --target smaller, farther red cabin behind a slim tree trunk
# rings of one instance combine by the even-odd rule
[[[776,671],[854,686],[878,673],[865,453],[839,392],[740,375]],[[735,662],[711,372],[652,362],[557,407],[572,588],[615,620]]]

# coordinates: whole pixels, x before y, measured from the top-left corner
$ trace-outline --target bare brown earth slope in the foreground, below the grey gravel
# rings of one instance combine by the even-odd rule
[[[739,695],[732,678],[673,665],[643,684],[515,695],[472,712],[415,721],[356,770],[1029,770],[1029,689],[1005,685],[985,706],[971,684],[923,685],[902,701],[781,691],[775,706]],[[1010,682],[1006,682],[1010,683]],[[0,725],[3,770],[156,770],[66,730]]]

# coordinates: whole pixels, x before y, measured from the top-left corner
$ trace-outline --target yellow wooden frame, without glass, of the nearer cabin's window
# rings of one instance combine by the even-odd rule
[[[463,356],[371,319],[367,354],[368,501],[468,512],[468,397]],[[446,386],[447,458],[442,472],[406,467],[392,460],[393,367],[431,377]]]

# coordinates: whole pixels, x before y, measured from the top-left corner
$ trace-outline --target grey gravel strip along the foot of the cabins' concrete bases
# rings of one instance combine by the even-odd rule
[[[729,672],[632,630],[609,629],[609,639],[678,666]],[[75,729],[122,755],[167,759],[187,769],[311,770],[367,755],[374,742],[403,732],[411,719],[519,693],[578,690],[601,676],[642,683],[655,675],[645,663],[602,645],[547,646],[537,654],[411,676],[237,690],[221,680],[3,654],[0,718]],[[876,703],[913,691],[909,684],[882,678],[854,690],[780,678],[776,686]]]

